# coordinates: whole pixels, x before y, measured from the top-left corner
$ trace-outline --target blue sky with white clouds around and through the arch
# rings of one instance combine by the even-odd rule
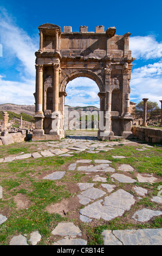
[[[39,48],[37,27],[43,23],[72,26],[116,27],[116,34],[132,33],[129,50],[135,57],[131,79],[131,101],[143,97],[162,100],[162,1],[31,1],[0,2],[0,104],[33,105],[35,51]],[[99,106],[98,86],[88,78],[67,85],[66,104]],[[75,95],[75,101],[74,101]],[[77,97],[76,97],[77,95]]]

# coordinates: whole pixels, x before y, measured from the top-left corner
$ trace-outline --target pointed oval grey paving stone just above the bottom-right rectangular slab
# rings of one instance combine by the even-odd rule
[[[132,218],[136,221],[146,222],[151,220],[154,216],[162,215],[162,211],[153,211],[151,209],[141,209],[135,212]]]

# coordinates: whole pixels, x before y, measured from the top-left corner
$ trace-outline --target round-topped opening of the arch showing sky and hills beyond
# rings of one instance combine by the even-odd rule
[[[73,131],[76,136],[97,136],[100,111],[98,84],[87,77],[76,77],[67,83],[65,90],[66,134],[72,135]]]

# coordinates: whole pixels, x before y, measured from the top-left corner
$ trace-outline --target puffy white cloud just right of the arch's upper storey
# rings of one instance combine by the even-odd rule
[[[132,36],[129,38],[129,49],[136,59],[154,59],[162,56],[162,44],[153,35]]]

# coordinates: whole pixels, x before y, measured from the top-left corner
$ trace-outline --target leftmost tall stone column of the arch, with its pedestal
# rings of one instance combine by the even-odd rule
[[[36,80],[36,99],[37,99],[37,106],[36,106],[36,113],[35,113],[35,130],[33,131],[33,135],[41,136],[44,135],[43,130],[43,65],[36,65],[36,72],[37,72],[37,80]],[[33,137],[34,137],[33,136]]]

